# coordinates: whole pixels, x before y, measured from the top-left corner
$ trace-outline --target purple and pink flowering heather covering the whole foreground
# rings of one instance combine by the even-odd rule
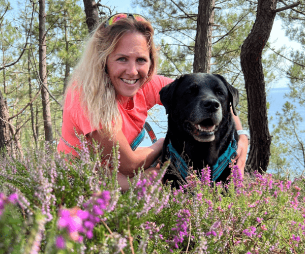
[[[112,173],[97,151],[82,140],[78,159],[52,147],[0,157],[0,253],[305,252],[304,178],[241,179],[232,165],[227,184],[190,169],[172,190],[166,164],[121,193],[118,147]]]

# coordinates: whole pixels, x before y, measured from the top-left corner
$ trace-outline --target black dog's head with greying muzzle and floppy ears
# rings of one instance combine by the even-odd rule
[[[211,142],[230,117],[231,106],[236,115],[238,90],[221,75],[192,73],[163,87],[160,99],[180,131],[199,142]]]

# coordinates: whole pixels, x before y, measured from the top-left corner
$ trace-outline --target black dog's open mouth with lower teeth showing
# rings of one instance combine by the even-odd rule
[[[189,133],[200,142],[210,142],[215,139],[214,133],[218,130],[211,118],[207,118],[199,123],[186,121]]]

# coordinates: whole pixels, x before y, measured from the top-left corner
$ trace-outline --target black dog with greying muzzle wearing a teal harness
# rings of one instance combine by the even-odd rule
[[[225,182],[237,149],[230,107],[236,115],[238,90],[221,75],[193,73],[163,87],[160,99],[168,114],[161,162],[172,162],[164,180],[173,180],[172,186],[178,187],[179,174],[185,179],[189,166],[200,173],[208,165],[212,180]]]

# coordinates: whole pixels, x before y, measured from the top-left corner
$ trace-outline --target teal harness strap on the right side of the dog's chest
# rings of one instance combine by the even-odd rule
[[[217,178],[221,175],[224,169],[231,162],[232,158],[237,155],[237,142],[233,135],[233,140],[229,144],[227,150],[218,158],[216,164],[212,167],[211,175],[212,181],[216,181]]]

